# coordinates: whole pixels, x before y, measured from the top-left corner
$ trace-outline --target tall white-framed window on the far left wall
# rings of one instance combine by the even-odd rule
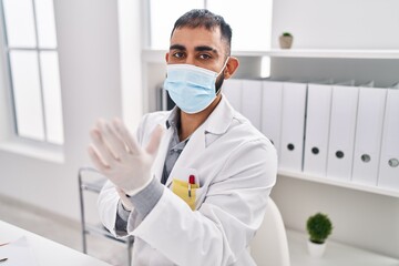
[[[2,0],[6,68],[16,133],[63,144],[61,85],[53,0]]]

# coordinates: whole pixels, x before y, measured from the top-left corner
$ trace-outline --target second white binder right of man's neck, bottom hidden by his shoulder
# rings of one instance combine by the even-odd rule
[[[260,131],[262,81],[243,80],[242,88],[242,114]]]

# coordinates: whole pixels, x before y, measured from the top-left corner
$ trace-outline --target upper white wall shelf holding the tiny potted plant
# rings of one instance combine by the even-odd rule
[[[145,62],[165,62],[166,50],[143,50]],[[399,50],[272,49],[268,51],[233,51],[234,57],[325,58],[325,59],[399,59]]]

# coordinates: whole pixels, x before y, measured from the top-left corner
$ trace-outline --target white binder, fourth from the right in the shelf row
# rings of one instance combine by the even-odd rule
[[[304,172],[325,176],[332,85],[308,84]]]

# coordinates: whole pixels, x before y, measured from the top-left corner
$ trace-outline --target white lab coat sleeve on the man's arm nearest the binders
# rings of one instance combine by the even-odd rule
[[[229,265],[249,246],[260,226],[276,181],[272,144],[245,143],[229,154],[205,201],[193,212],[170,190],[153,211],[127,232],[177,265]]]

